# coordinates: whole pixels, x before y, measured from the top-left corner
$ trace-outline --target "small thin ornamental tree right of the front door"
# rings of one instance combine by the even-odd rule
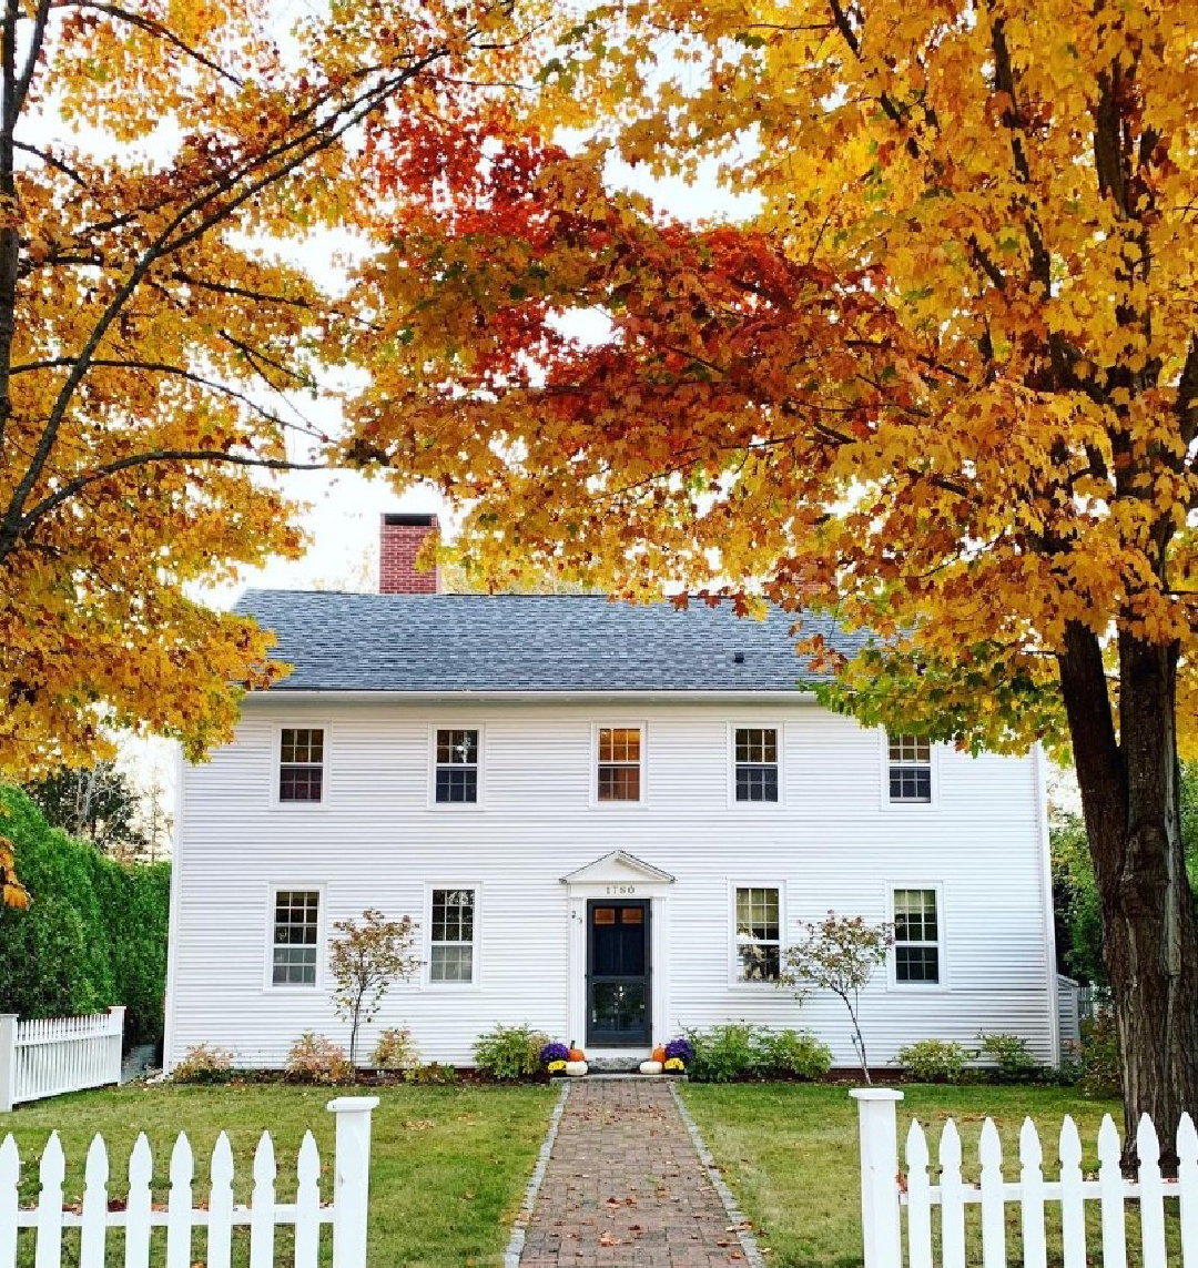
[[[853,1023],[853,1051],[861,1061],[861,1073],[871,1083],[861,1033],[861,992],[886,959],[894,927],[829,912],[821,921],[804,921],[800,929],[799,941],[786,952],[778,985],[791,988],[800,999],[811,990],[839,995]]]

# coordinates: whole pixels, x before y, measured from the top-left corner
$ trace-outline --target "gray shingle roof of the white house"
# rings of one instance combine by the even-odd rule
[[[274,691],[780,691],[810,677],[794,616],[723,605],[634,606],[592,595],[344,595],[251,590],[236,605],[271,629],[294,672]],[[804,618],[852,654],[868,634]],[[743,663],[735,659],[743,654]]]

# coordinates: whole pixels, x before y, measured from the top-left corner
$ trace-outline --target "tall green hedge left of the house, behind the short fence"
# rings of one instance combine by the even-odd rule
[[[124,1004],[126,1041],[162,1036],[170,864],[118,864],[0,789],[0,833],[29,890],[0,908],[0,1012],[65,1017]]]

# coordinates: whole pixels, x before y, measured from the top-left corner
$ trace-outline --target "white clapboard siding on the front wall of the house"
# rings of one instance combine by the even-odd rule
[[[603,723],[645,727],[643,804],[593,801]],[[273,804],[283,725],[326,728],[321,805]],[[478,805],[431,804],[437,725],[480,729]],[[778,728],[778,805],[734,800],[735,725]],[[180,779],[167,1064],[208,1042],[238,1064],[278,1066],[306,1030],[347,1042],[327,964],[316,988],[270,985],[274,888],[319,889],[326,952],[332,923],[366,907],[411,914],[426,938],[432,886],[478,888],[477,980],[397,985],[364,1052],[389,1026],[409,1027],[425,1060],[464,1065],[497,1022],[584,1041],[570,1028],[586,970],[562,877],[616,850],[673,877],[653,896],[654,1041],[743,1018],[814,1030],[835,1064],[852,1065],[839,1000],[815,995],[800,1008],[785,990],[735,979],[733,889],[781,886],[785,941],[829,909],[885,921],[892,889],[914,885],[942,895],[943,981],[904,988],[879,970],[862,1002],[871,1063],[892,1063],[920,1038],[976,1046],[981,1031],[1019,1035],[1055,1060],[1040,758],[937,746],[934,804],[891,806],[884,739],[797,692],[607,705],[254,696],[236,741]]]

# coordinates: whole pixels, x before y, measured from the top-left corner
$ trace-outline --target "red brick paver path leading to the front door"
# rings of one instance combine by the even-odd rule
[[[570,1088],[520,1268],[744,1268],[664,1083]]]

